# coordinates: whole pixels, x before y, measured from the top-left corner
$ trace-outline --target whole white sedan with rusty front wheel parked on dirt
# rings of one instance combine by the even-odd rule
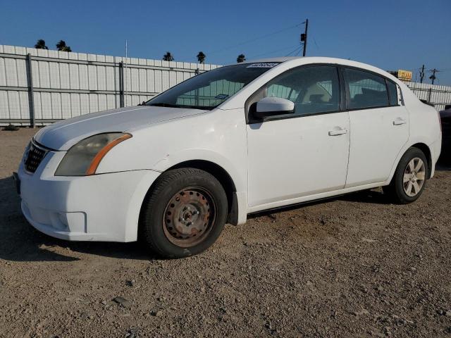
[[[16,175],[54,237],[207,249],[247,214],[383,186],[407,204],[433,177],[438,112],[371,65],[273,58],[192,77],[144,106],[39,130]]]

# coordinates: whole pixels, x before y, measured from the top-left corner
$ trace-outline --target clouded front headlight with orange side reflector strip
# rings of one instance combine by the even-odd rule
[[[123,132],[109,132],[97,134],[87,139],[82,139],[78,144],[70,148],[59,163],[55,176],[85,176],[94,175],[101,159],[113,146],[132,135]]]

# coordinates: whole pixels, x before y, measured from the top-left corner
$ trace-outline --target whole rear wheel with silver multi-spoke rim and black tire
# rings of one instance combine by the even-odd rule
[[[421,196],[428,176],[428,162],[423,151],[409,148],[384,192],[397,204],[409,204]]]

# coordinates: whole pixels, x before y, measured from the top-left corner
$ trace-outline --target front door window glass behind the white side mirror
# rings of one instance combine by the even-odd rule
[[[295,103],[295,115],[340,110],[340,82],[335,66],[301,66],[279,75],[261,89],[256,101],[280,97]]]

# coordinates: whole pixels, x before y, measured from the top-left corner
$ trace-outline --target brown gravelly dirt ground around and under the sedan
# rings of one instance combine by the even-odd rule
[[[0,131],[0,337],[451,337],[449,165],[414,204],[351,194],[164,261],[27,224],[11,173],[35,131]]]

